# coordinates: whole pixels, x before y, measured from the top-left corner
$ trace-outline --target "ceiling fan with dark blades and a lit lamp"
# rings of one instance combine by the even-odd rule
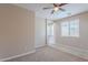
[[[53,3],[53,7],[43,8],[43,10],[52,9],[51,14],[53,14],[57,11],[66,11],[65,9],[61,8],[66,4],[68,3]]]

